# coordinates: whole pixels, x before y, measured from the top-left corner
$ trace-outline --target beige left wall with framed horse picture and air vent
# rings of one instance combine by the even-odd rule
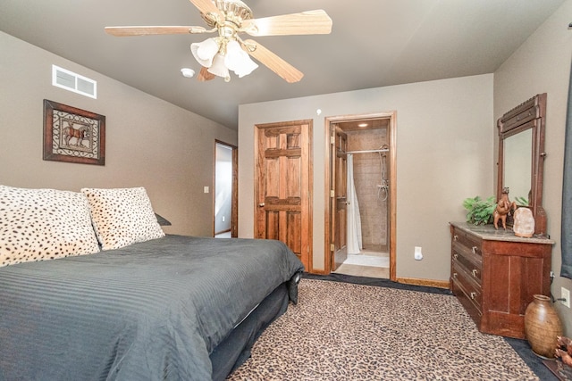
[[[0,52],[0,184],[145,186],[172,222],[165,232],[212,235],[203,186],[214,185],[214,140],[236,145],[236,131],[2,32]],[[97,99],[53,87],[52,64],[96,79]],[[105,115],[105,166],[42,160],[43,99]]]

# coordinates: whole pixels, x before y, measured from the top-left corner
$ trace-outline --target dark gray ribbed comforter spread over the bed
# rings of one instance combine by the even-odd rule
[[[0,379],[208,380],[214,347],[302,269],[278,241],[189,236],[0,268]]]

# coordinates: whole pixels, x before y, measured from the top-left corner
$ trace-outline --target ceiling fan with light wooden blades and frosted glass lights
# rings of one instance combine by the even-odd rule
[[[240,38],[240,33],[254,37],[329,34],[332,19],[324,10],[290,13],[254,19],[253,13],[240,0],[189,0],[194,4],[211,29],[186,26],[106,27],[105,32],[117,36],[148,36],[170,34],[202,34],[218,32],[218,37],[207,38],[190,46],[192,54],[202,65],[198,80],[223,77],[229,81],[229,70],[239,77],[248,75],[258,65],[248,55],[273,70],[289,83],[298,82],[304,74],[273,54],[259,43]]]

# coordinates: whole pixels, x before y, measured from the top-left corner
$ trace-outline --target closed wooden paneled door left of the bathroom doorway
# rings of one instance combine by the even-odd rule
[[[257,125],[255,237],[287,244],[312,270],[311,120]]]

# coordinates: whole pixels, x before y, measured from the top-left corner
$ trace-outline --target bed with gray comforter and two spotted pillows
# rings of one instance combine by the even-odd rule
[[[282,242],[155,224],[143,188],[0,186],[0,380],[224,379],[297,302]]]

